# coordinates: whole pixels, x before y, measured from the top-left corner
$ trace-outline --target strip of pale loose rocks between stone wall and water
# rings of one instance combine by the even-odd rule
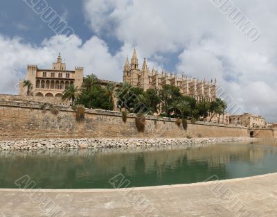
[[[174,145],[193,146],[196,144],[215,144],[240,141],[253,141],[253,139],[248,137],[193,139],[37,139],[22,141],[0,141],[0,150],[127,148]]]

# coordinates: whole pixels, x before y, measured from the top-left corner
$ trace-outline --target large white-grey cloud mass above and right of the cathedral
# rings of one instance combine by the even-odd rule
[[[249,42],[211,1],[86,0],[84,8],[100,37],[109,32],[125,45],[136,44],[142,56],[161,67],[166,67],[164,57],[178,54],[179,73],[216,77],[245,112],[277,121],[277,3],[233,2],[260,29],[256,42]]]

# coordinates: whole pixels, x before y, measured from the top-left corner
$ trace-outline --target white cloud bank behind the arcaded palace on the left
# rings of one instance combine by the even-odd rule
[[[67,69],[84,67],[84,73],[96,73],[99,78],[120,80],[122,73],[118,62],[120,56],[109,54],[107,44],[98,37],[91,37],[85,43],[74,36],[64,42],[59,36],[44,40],[40,46],[24,43],[21,38],[9,38],[0,35],[0,92],[17,94],[19,78],[26,77],[27,64],[37,64],[41,69],[51,69],[51,64],[62,52]],[[120,73],[120,74],[118,74]]]

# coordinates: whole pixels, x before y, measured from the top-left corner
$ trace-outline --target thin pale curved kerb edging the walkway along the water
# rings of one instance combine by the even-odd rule
[[[260,177],[268,177],[271,175],[277,175],[277,173],[268,173],[264,175],[256,175],[256,176],[250,176],[250,177],[241,177],[241,178],[235,178],[235,179],[229,179],[229,180],[217,180],[218,182],[242,182],[244,180],[255,180],[256,178]],[[211,181],[213,182],[213,181]],[[190,186],[203,186],[211,184],[211,182],[197,182],[197,183],[191,183],[191,184],[172,184],[172,185],[161,185],[161,186],[144,186],[144,187],[134,187],[131,188],[133,190],[139,190],[139,191],[147,191],[147,190],[154,190],[154,189],[171,189],[171,188],[180,188],[180,187],[190,187]],[[67,192],[67,193],[97,193],[97,192],[115,192],[115,191],[129,191],[129,189],[0,189],[0,192],[37,192],[37,191],[43,191],[45,193],[55,193],[55,192]]]

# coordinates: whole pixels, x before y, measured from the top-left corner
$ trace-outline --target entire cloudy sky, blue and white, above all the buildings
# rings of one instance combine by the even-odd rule
[[[39,8],[30,7],[42,1],[72,28],[72,35],[61,37]],[[51,68],[59,52],[67,69],[84,67],[85,75],[122,81],[125,59],[135,46],[141,67],[147,58],[150,70],[217,78],[229,107],[277,122],[277,2],[229,0],[229,7],[222,2],[2,0],[0,93],[17,94],[27,64]],[[246,16],[259,37],[242,32],[235,17],[230,19],[231,9]]]

